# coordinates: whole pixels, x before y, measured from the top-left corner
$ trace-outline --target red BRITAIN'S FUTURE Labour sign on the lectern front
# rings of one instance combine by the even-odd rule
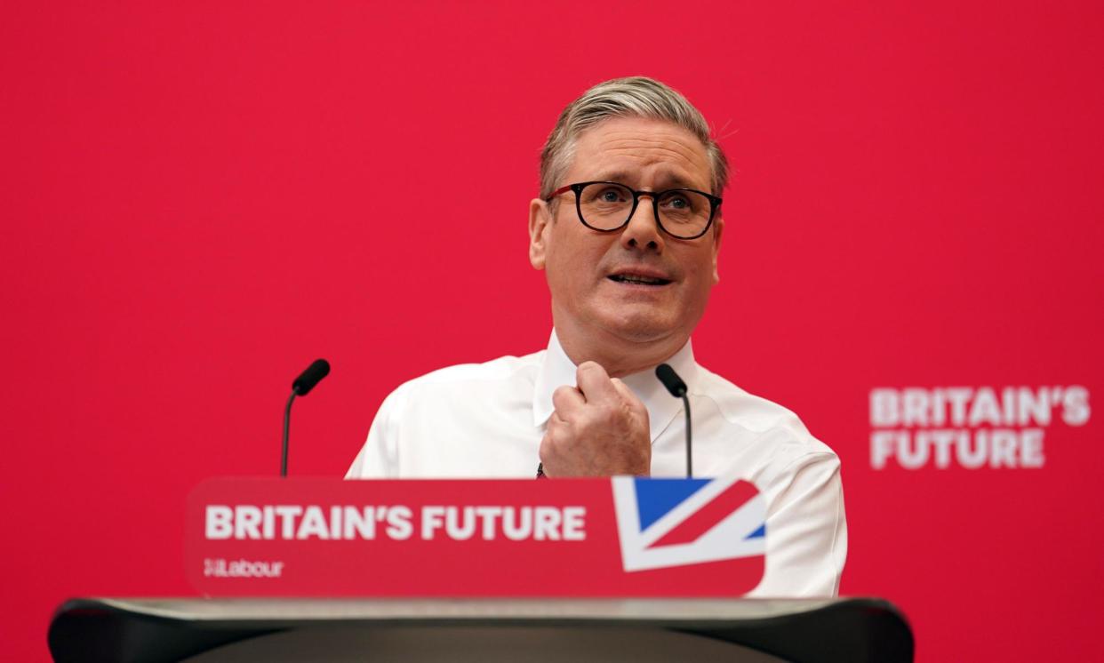
[[[739,597],[765,513],[734,477],[214,479],[184,563],[219,597]]]

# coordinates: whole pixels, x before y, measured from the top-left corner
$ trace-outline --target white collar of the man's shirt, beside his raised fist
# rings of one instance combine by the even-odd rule
[[[693,349],[690,346],[690,341],[687,340],[687,344],[666,363],[670,364],[679,377],[687,383],[689,393],[693,393],[698,377],[698,364],[693,360]],[[555,330],[552,330],[552,338],[549,339],[549,347],[544,353],[544,361],[537,373],[537,383],[533,386],[533,426],[543,426],[552,416],[552,411],[555,409],[552,405],[552,392],[556,387],[575,386],[575,364],[560,345]],[[622,382],[648,408],[648,425],[651,428],[651,441],[655,442],[659,434],[681,411],[682,399],[670,395],[656,377],[654,368],[626,375],[622,377]]]

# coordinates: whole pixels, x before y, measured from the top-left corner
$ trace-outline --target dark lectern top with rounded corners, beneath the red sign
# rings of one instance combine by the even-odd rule
[[[913,660],[913,637],[903,616],[881,599],[480,599],[480,600],[332,600],[332,599],[73,599],[50,624],[50,651],[60,663],[88,661],[180,661],[200,655],[202,661],[268,660],[273,651],[296,659],[294,639],[316,637],[330,648],[341,638],[351,643],[344,655],[320,651],[317,642],[301,651],[314,660],[395,660],[395,648],[418,652],[408,660],[433,660],[426,644],[442,633],[445,646],[495,648],[524,633],[526,642],[571,640],[597,642],[608,637],[625,660],[660,656],[648,638],[680,638],[675,643],[712,648],[697,660],[790,661],[794,663],[896,663]],[[397,633],[400,639],[389,634]],[[574,633],[574,635],[572,635]],[[498,634],[473,638],[471,634]],[[581,634],[581,635],[580,635]],[[505,637],[503,637],[505,635]],[[283,639],[278,644],[266,640]],[[353,642],[357,640],[357,642]],[[622,643],[650,648],[641,654]],[[397,642],[397,644],[396,644]],[[639,644],[644,642],[645,644]],[[391,648],[379,650],[373,643]],[[464,644],[459,644],[464,643]],[[473,644],[476,643],[476,644]],[[517,644],[517,643],[514,643]],[[267,653],[266,648],[267,646]],[[503,648],[507,645],[503,644]],[[587,645],[592,646],[592,645]],[[611,660],[593,645],[594,660]],[[731,657],[723,648],[731,649]],[[250,648],[253,648],[252,650]],[[310,649],[315,648],[315,649]],[[355,649],[352,649],[355,648]],[[722,649],[718,649],[722,648]],[[476,656],[476,652],[453,649]],[[661,649],[661,648],[660,648]],[[703,649],[702,652],[705,650]],[[203,654],[203,652],[208,652]],[[220,652],[223,655],[220,656]],[[252,652],[252,653],[251,653]],[[349,654],[352,652],[352,654]],[[431,652],[427,654],[426,652]],[[719,657],[719,652],[721,656]],[[763,652],[769,654],[756,654]],[[400,649],[400,654],[402,650]],[[438,653],[446,653],[442,650]],[[561,656],[563,654],[560,654]],[[258,657],[259,656],[259,657]],[[351,656],[351,657],[350,657]],[[389,657],[390,656],[390,657]],[[556,660],[553,649],[497,652],[502,660]],[[577,652],[571,654],[580,660]],[[773,656],[773,657],[772,657]],[[406,659],[406,656],[402,656]],[[681,657],[681,656],[680,656]],[[495,660],[496,652],[481,659]],[[466,659],[465,659],[466,660]]]

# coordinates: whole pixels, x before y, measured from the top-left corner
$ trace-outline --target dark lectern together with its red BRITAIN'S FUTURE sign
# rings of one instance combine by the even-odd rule
[[[912,661],[887,601],[740,598],[769,531],[739,477],[219,479],[184,530],[205,598],[67,601],[57,661]]]

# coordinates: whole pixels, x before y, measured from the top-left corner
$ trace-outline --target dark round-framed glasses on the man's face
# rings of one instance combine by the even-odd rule
[[[635,191],[619,182],[577,182],[561,186],[544,199],[575,192],[575,211],[578,220],[592,231],[609,233],[628,225],[640,196],[651,199],[656,225],[671,237],[697,239],[713,223],[721,199],[694,189],[666,191]]]

